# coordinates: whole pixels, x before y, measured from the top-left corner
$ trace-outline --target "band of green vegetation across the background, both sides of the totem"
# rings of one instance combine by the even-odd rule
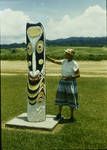
[[[62,59],[64,50],[71,46],[47,46],[46,55]],[[77,60],[107,60],[107,47],[73,47]],[[2,60],[26,60],[27,51],[24,48],[1,49]]]

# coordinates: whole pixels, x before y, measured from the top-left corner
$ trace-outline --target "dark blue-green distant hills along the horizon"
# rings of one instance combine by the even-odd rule
[[[66,39],[46,40],[46,45],[58,46],[107,46],[107,37],[70,37]],[[25,48],[25,43],[1,44],[1,48]]]

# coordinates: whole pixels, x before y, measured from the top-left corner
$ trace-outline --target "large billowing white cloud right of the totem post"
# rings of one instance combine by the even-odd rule
[[[71,36],[106,36],[106,11],[99,5],[90,6],[80,16],[71,18],[68,14],[61,20],[50,19],[47,38],[57,39]]]

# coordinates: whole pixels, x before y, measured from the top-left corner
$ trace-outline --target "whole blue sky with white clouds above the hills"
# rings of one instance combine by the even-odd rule
[[[1,44],[26,42],[26,23],[46,39],[106,36],[106,0],[0,0]]]

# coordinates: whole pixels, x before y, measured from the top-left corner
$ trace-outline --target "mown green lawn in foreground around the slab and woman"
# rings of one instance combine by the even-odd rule
[[[80,108],[75,123],[58,124],[54,131],[5,128],[6,121],[26,112],[26,76],[1,77],[3,150],[107,149],[107,78],[78,79]],[[59,77],[47,77],[47,114],[54,105]],[[63,115],[70,111],[64,107]]]

